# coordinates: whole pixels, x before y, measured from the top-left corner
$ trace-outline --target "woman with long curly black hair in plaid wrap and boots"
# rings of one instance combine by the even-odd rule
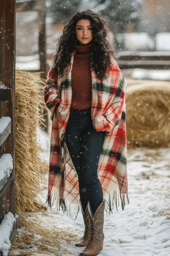
[[[85,231],[80,255],[103,248],[105,199],[109,212],[128,199],[126,173],[126,82],[98,13],[78,11],[58,40],[44,99],[52,113],[47,201],[71,212],[80,205]],[[51,201],[53,198],[53,201]]]

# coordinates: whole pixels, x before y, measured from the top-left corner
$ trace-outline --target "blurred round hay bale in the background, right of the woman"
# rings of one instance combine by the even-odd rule
[[[170,82],[126,80],[128,146],[170,147]]]

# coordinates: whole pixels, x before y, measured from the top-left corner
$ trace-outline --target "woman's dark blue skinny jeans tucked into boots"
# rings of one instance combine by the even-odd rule
[[[83,211],[85,212],[89,200],[91,210],[95,214],[103,199],[97,170],[105,132],[95,130],[90,111],[90,109],[70,109],[66,144],[78,174]]]

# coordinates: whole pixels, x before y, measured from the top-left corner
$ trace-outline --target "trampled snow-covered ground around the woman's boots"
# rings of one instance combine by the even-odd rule
[[[46,153],[46,156],[48,154]],[[105,214],[104,246],[99,255],[169,256],[170,216],[162,214],[165,209],[170,208],[170,196],[168,196],[170,194],[170,148],[129,150],[128,178],[130,204],[124,211],[114,210],[111,216]],[[44,201],[47,187],[48,175],[42,185],[41,199]],[[56,224],[65,230],[77,233],[80,238],[84,231],[80,212],[75,221],[60,211],[56,212],[55,209],[32,214],[32,217],[38,218],[41,224],[48,223],[49,226]],[[74,243],[62,244],[62,246],[75,255],[79,255],[82,251],[82,248],[76,247]]]

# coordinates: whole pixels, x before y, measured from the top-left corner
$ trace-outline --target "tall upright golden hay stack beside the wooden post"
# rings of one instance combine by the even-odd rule
[[[40,173],[44,171],[37,144],[36,131],[39,120],[43,121],[42,88],[44,80],[40,73],[16,70],[15,89],[15,190],[16,212],[23,216],[25,211],[41,208],[36,200],[39,191]]]

